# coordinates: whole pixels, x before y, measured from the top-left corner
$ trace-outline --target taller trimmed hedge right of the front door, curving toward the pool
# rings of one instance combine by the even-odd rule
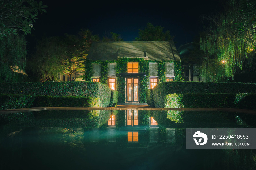
[[[148,90],[150,91],[150,90]],[[162,82],[151,92],[148,103],[155,107],[166,107],[169,94],[195,94],[195,93],[256,93],[255,83],[215,83],[215,82]],[[153,99],[153,100],[152,100]],[[150,105],[152,107],[152,105]]]

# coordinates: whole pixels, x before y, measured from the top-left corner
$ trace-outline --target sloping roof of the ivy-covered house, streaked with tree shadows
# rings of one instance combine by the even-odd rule
[[[121,57],[180,61],[173,41],[93,42],[87,59],[117,60]]]

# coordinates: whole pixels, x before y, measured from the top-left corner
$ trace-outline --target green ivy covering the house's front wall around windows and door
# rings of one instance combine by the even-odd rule
[[[182,81],[182,73],[181,73],[181,62],[180,61],[151,61],[145,60],[144,58],[119,58],[116,61],[85,61],[85,79],[86,81],[92,80],[92,63],[100,63],[101,64],[101,78],[100,82],[108,85],[108,63],[116,62],[116,90],[119,92],[118,102],[125,102],[125,76],[120,76],[120,73],[127,73],[127,63],[128,62],[138,62],[138,72],[146,73],[146,76],[139,76],[140,86],[139,86],[139,98],[141,103],[146,103],[146,91],[149,88],[149,62],[157,62],[158,63],[158,81],[159,83],[165,82],[165,63],[173,62],[174,63],[174,81]],[[131,76],[129,76],[131,77]],[[138,76],[136,76],[138,77]]]

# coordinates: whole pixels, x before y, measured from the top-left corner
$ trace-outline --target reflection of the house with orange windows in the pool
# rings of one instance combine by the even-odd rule
[[[142,116],[142,117],[141,117]],[[144,117],[145,116],[145,117]],[[123,125],[117,126],[118,119],[123,119]],[[143,124],[148,119],[147,124]],[[143,121],[143,122],[142,122]],[[149,127],[149,128],[148,128]],[[117,137],[118,135],[122,137]],[[157,143],[161,139],[165,139],[167,143],[175,142],[175,129],[166,128],[165,133],[160,133],[159,124],[154,120],[154,117],[148,117],[147,114],[138,110],[123,111],[123,114],[111,115],[107,122],[108,142],[117,142],[122,140],[128,143]],[[147,142],[146,142],[147,143]]]

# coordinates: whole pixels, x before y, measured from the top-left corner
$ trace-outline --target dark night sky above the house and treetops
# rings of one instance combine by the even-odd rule
[[[150,22],[162,26],[175,36],[178,48],[181,44],[193,41],[202,28],[200,16],[219,11],[222,1],[98,1],[98,0],[42,0],[47,5],[47,13],[38,16],[33,24],[32,35],[40,38],[62,36],[64,33],[77,34],[82,28],[93,34],[105,32],[121,34],[124,41],[138,37],[139,29]]]

